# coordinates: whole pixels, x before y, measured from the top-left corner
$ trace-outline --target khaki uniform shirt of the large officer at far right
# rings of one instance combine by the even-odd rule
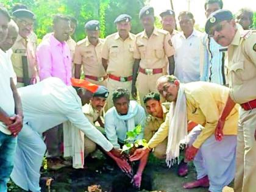
[[[256,99],[256,31],[238,25],[228,48],[230,97],[238,104]]]

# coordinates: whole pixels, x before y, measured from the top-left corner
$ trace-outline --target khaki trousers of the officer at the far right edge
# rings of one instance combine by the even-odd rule
[[[238,121],[235,192],[256,191],[256,108],[240,109]]]

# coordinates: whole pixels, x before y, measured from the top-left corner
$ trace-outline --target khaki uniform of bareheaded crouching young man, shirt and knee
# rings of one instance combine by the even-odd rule
[[[146,123],[145,123],[145,129],[144,129],[144,138],[149,141],[155,132],[159,129],[161,124],[165,122],[165,117],[166,114],[169,112],[169,105],[170,103],[165,102],[162,104],[162,109],[163,109],[163,118],[157,118],[152,115],[149,115],[146,118]],[[162,141],[162,143],[158,144],[153,151],[153,154],[157,158],[165,158],[166,154],[166,147],[167,147],[167,138]]]

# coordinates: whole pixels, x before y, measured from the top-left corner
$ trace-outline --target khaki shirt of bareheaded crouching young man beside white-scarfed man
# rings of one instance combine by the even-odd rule
[[[145,129],[144,129],[144,138],[149,141],[155,132],[159,129],[161,124],[165,122],[166,114],[169,112],[169,102],[162,103],[163,109],[163,118],[157,118],[155,116],[149,115],[146,118]]]

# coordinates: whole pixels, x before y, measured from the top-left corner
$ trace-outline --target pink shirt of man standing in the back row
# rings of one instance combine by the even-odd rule
[[[37,63],[41,80],[59,77],[66,85],[71,85],[72,59],[65,41],[58,41],[53,34],[43,39],[37,48]]]

